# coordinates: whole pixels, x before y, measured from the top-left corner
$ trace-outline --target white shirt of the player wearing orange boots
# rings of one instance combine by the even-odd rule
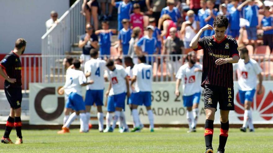
[[[68,69],[65,76],[65,94],[69,95],[71,92],[82,95],[81,84],[86,83],[86,77],[83,71]]]

